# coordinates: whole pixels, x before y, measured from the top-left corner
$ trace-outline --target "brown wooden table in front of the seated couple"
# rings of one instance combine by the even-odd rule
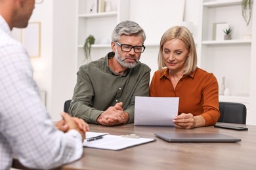
[[[238,125],[245,126],[245,125]],[[62,169],[255,169],[256,126],[248,131],[235,131],[217,127],[177,129],[175,127],[145,127],[127,124],[104,127],[90,124],[90,130],[112,135],[135,133],[156,139],[152,143],[124,150],[84,148],[83,157],[64,165]],[[154,133],[223,133],[242,139],[238,143],[167,143]]]

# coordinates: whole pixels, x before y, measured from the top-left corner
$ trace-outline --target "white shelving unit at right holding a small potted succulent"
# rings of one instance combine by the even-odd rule
[[[220,95],[220,101],[244,103],[249,107],[251,44],[243,35],[252,33],[252,18],[246,26],[242,18],[241,0],[200,1],[198,26],[198,63],[202,69],[214,73],[221,86],[222,77],[232,95]],[[226,23],[232,28],[231,40],[214,40],[213,24]],[[240,94],[243,95],[240,95]]]

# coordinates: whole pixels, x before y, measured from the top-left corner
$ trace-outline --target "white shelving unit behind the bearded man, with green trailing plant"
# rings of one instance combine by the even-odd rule
[[[77,69],[85,62],[83,44],[89,35],[95,37],[92,45],[91,56],[101,58],[110,51],[110,37],[121,20],[129,19],[129,0],[111,1],[113,11],[90,13],[93,0],[77,0]],[[92,58],[92,60],[98,59]]]

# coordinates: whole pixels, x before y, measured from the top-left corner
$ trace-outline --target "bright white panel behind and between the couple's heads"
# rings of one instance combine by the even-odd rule
[[[183,19],[184,0],[130,0],[129,20],[137,22],[146,33],[145,44],[160,42],[161,35]]]

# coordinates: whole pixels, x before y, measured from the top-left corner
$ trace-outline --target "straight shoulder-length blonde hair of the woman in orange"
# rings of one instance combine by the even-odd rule
[[[158,52],[158,69],[162,70],[166,67],[165,63],[163,63],[163,44],[171,39],[180,39],[186,44],[189,54],[185,61],[184,75],[189,75],[196,70],[198,56],[194,39],[190,31],[184,26],[174,26],[163,33]]]

